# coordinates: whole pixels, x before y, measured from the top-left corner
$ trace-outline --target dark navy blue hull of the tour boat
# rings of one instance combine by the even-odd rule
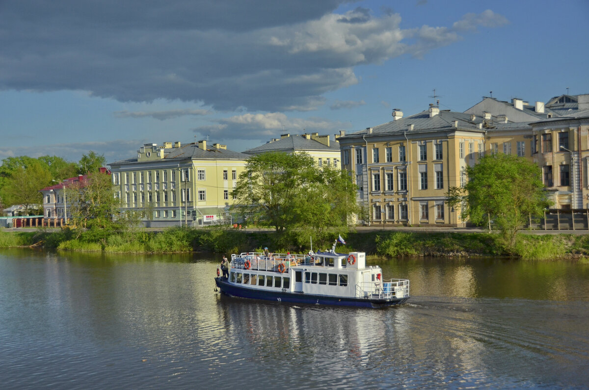
[[[292,292],[277,292],[257,290],[249,287],[231,285],[227,279],[216,277],[215,283],[222,293],[228,296],[239,298],[273,300],[274,302],[286,303],[307,303],[310,305],[335,305],[335,306],[356,306],[360,308],[386,308],[387,306],[400,305],[409,299],[399,298],[392,300],[369,299],[369,298],[343,298],[337,296],[310,295]]]

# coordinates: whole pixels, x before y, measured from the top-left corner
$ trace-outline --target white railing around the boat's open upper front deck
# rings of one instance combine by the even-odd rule
[[[232,256],[233,257],[233,256]],[[297,265],[312,264],[310,256],[305,255],[287,255],[283,253],[274,253],[272,256],[265,256],[260,252],[240,253],[231,259],[231,267],[236,269],[255,270],[255,271],[274,271],[286,272],[290,267]],[[283,267],[280,267],[280,265]]]

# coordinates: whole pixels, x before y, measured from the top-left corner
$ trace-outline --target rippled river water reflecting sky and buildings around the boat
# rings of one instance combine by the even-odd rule
[[[589,384],[589,265],[383,261],[412,298],[358,309],[227,298],[201,257],[0,251],[2,388]]]

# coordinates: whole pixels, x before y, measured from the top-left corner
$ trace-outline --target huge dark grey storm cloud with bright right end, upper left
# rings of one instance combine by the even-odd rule
[[[314,110],[325,92],[358,82],[356,65],[422,56],[500,16],[485,11],[454,29],[404,31],[397,14],[333,14],[343,2],[0,2],[0,90],[83,90],[216,110]]]

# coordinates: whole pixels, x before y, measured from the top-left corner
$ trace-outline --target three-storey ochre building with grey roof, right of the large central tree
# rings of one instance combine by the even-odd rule
[[[464,168],[485,150],[483,119],[429,110],[339,138],[342,167],[356,177],[366,224],[462,226],[448,207],[449,187],[465,184]]]

